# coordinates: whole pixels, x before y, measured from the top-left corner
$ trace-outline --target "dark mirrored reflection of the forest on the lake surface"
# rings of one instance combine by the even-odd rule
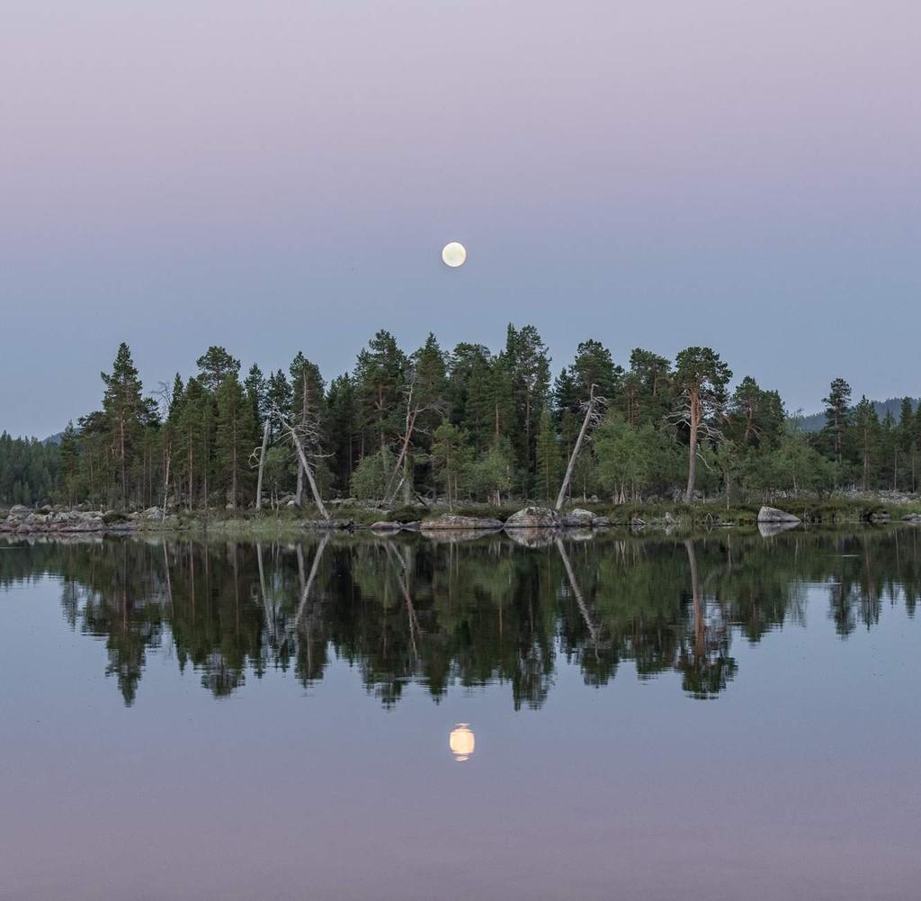
[[[333,658],[360,671],[387,706],[404,685],[507,685],[515,708],[540,707],[562,656],[587,685],[623,661],[648,679],[676,674],[711,698],[740,677],[732,646],[805,622],[806,589],[827,623],[871,628],[884,603],[913,615],[921,532],[728,532],[693,539],[310,535],[284,542],[111,538],[7,545],[0,586],[61,580],[69,625],[104,639],[106,673],[126,704],[149,654],[171,646],[215,696],[270,668],[303,685]]]

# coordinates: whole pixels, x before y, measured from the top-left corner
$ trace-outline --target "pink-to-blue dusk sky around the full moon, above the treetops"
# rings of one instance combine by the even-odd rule
[[[916,0],[0,0],[0,428],[207,345],[597,337],[921,394]],[[449,270],[441,246],[461,240]]]

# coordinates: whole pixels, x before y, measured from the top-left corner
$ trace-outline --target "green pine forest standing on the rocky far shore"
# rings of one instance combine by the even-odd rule
[[[407,352],[377,333],[329,384],[298,353],[244,374],[212,346],[187,378],[145,392],[127,345],[102,373],[100,409],[68,424],[57,449],[0,442],[0,502],[94,507],[250,507],[289,497],[450,506],[552,501],[580,433],[568,493],[615,502],[768,498],[857,486],[915,491],[921,409],[880,420],[835,379],[825,426],[796,427],[779,394],[732,373],[707,347],[672,361],[635,349],[626,365],[599,341],[552,376],[538,330],[508,326],[498,353],[429,335]]]

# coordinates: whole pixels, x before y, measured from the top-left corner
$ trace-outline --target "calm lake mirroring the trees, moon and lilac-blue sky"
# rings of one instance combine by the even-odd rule
[[[914,901],[919,600],[910,527],[0,542],[0,898]]]

